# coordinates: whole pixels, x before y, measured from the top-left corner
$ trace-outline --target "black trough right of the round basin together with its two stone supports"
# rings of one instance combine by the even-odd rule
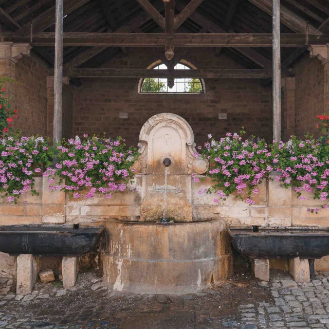
[[[329,229],[319,227],[230,228],[232,245],[254,261],[255,276],[269,281],[269,259],[289,259],[299,282],[314,278],[314,260],[327,255]]]

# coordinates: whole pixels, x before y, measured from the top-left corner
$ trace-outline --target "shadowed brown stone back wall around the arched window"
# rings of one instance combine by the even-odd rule
[[[152,51],[129,50],[129,57],[118,55],[103,67],[147,68],[155,60]],[[242,68],[222,54],[192,49],[184,57],[197,68]],[[186,119],[191,125],[195,142],[200,144],[207,134],[220,138],[226,132],[272,139],[271,86],[262,87],[253,79],[206,79],[206,94],[139,94],[139,79],[82,79],[83,86],[74,91],[74,134],[121,135],[127,144],[136,145],[145,121],[155,114],[170,112]],[[120,119],[119,113],[127,113]],[[218,114],[226,113],[227,120]]]

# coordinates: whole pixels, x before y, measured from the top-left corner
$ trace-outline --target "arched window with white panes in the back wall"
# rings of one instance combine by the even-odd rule
[[[161,61],[156,61],[151,64],[148,68],[161,70],[167,69],[167,66]],[[196,68],[191,63],[181,60],[175,66],[175,69],[189,70]],[[203,79],[193,78],[177,78],[174,79],[174,85],[170,87],[167,78],[145,78],[139,81],[139,92],[140,93],[179,93],[179,94],[202,94],[204,93],[204,81]]]

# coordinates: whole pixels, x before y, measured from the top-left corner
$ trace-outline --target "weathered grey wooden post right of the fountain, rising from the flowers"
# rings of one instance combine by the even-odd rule
[[[273,139],[281,140],[280,0],[273,0]]]

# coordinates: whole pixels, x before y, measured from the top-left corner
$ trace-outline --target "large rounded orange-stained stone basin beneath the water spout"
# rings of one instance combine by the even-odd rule
[[[230,273],[222,220],[202,223],[106,223],[103,280],[134,294],[189,294]]]

